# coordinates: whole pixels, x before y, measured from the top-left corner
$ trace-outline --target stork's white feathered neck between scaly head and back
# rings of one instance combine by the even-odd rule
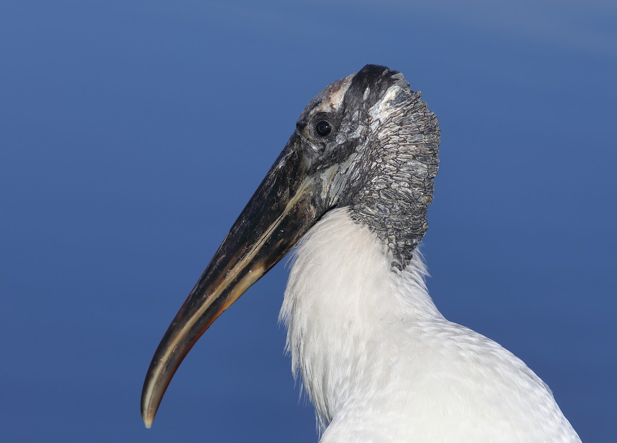
[[[378,354],[401,346],[397,334],[443,318],[426,290],[421,255],[400,271],[391,254],[347,208],[326,214],[296,249],[280,319],[292,370],[321,426],[353,397],[354,381],[378,383]]]

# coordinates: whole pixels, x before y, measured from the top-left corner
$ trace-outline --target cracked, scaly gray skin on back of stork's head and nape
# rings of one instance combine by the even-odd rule
[[[405,81],[408,86],[408,83]],[[387,243],[393,265],[404,268],[426,233],[427,205],[433,199],[439,167],[439,125],[420,93],[407,89],[397,99],[413,106],[394,107],[393,115],[370,143],[371,180],[352,197],[352,217],[367,223]]]

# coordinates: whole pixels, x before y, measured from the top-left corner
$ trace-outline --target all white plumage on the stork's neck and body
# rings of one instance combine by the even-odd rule
[[[580,442],[528,366],[441,315],[418,252],[388,254],[344,208],[296,249],[281,320],[321,443]]]

